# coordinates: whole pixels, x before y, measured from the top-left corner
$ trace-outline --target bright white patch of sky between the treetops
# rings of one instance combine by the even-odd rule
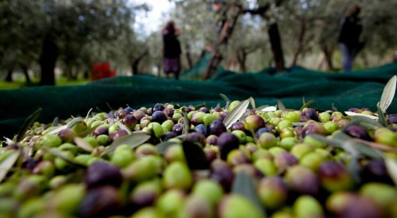
[[[141,12],[136,15],[135,31],[145,35],[157,31],[163,25],[164,20],[169,18],[169,12],[175,6],[169,0],[130,0],[130,2],[134,4],[146,3],[151,8],[147,13]]]

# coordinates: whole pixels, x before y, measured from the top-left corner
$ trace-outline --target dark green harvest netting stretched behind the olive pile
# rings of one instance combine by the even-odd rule
[[[155,103],[180,105],[224,105],[219,93],[231,100],[255,98],[257,106],[275,105],[281,100],[287,108],[299,109],[302,97],[315,100],[311,106],[339,110],[352,107],[376,109],[383,87],[397,72],[397,63],[349,73],[317,72],[294,67],[282,74],[270,74],[269,68],[259,73],[235,73],[219,70],[209,81],[176,81],[151,76],[116,77],[83,86],[35,87],[0,91],[0,129],[12,136],[24,118],[41,107],[41,122],[51,122],[70,115],[85,116],[91,108],[109,111],[113,108],[150,107]],[[397,102],[397,101],[396,101]],[[397,103],[388,109],[397,112]]]

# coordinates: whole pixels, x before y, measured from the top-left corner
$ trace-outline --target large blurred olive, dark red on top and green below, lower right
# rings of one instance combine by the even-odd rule
[[[353,181],[347,169],[334,161],[322,163],[319,176],[322,186],[329,192],[349,190],[353,187]]]

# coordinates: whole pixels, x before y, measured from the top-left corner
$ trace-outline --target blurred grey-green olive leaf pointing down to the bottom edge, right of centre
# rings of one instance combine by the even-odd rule
[[[261,204],[261,200],[258,197],[254,181],[250,175],[244,172],[237,173],[233,181],[232,192],[247,198],[258,208],[259,211],[262,212],[261,217],[266,217],[265,208]]]

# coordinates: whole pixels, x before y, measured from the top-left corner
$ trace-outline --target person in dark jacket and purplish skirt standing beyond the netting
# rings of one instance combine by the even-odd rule
[[[164,61],[163,68],[166,77],[170,73],[175,74],[175,78],[179,79],[181,72],[181,45],[178,40],[179,30],[175,27],[174,21],[170,20],[163,30],[164,42]]]

